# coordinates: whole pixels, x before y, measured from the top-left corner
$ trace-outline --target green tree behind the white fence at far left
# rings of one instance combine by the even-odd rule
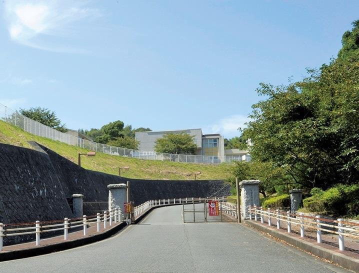
[[[61,132],[66,132],[66,125],[61,124],[61,120],[56,116],[55,111],[51,111],[47,108],[31,107],[29,109],[21,109],[19,112],[35,121],[38,121],[44,125],[54,128]]]

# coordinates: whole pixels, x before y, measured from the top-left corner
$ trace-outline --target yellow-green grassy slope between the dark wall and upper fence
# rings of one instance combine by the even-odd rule
[[[24,132],[22,129],[0,121],[0,142],[31,148],[26,142],[34,140],[49,149],[59,153],[63,157],[77,163],[77,152],[86,152],[86,149],[67,145],[59,141],[53,141],[44,137],[35,136]],[[115,156],[97,152],[96,156],[81,157],[81,165],[84,168],[98,170],[110,174],[118,174],[119,166],[129,166],[129,170],[121,170],[121,175],[130,178],[144,179],[193,179],[191,173],[200,171],[198,179],[224,179],[232,169],[230,164],[193,164],[168,162],[159,160],[141,160],[123,156]]]

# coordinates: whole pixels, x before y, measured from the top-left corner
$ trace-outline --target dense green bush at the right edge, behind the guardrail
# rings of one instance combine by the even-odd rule
[[[337,184],[325,191],[313,188],[312,196],[303,199],[309,212],[332,216],[354,216],[359,214],[359,184]]]

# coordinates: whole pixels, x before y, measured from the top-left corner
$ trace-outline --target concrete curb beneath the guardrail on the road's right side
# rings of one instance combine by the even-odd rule
[[[294,236],[290,236],[289,234],[285,233],[285,231],[282,231],[281,229],[277,230],[277,229],[269,228],[253,220],[243,220],[242,223],[250,227],[253,227],[259,231],[268,233],[273,237],[286,241],[287,243],[299,247],[300,249],[303,249],[305,251],[308,251],[316,256],[337,263],[344,268],[353,270],[355,272],[359,272],[359,259],[357,258],[350,257],[342,253],[338,253],[336,251],[321,247],[317,244],[296,238]]]

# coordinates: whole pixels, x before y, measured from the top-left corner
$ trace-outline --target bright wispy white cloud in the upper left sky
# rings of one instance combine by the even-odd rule
[[[5,18],[10,38],[30,47],[59,51],[85,52],[66,44],[57,44],[56,36],[72,33],[73,22],[99,16],[97,9],[81,1],[47,0],[5,2]]]

